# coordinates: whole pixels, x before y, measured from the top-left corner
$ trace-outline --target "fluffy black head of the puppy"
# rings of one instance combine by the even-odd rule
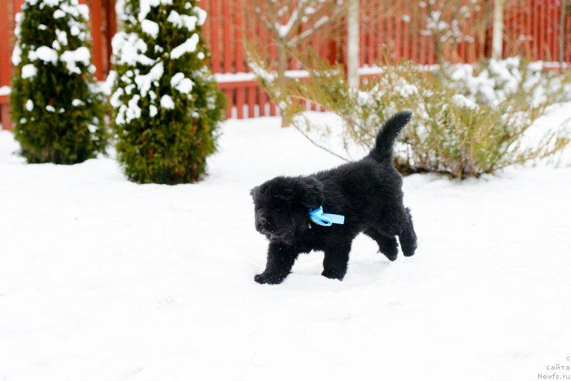
[[[256,230],[283,243],[293,243],[295,235],[308,228],[309,209],[323,203],[323,184],[308,177],[276,177],[250,193]]]

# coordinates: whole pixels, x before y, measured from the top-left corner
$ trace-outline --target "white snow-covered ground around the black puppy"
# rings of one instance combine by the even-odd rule
[[[360,236],[343,282],[312,253],[258,285],[248,191],[340,163],[278,125],[228,121],[185,186],[129,183],[111,158],[26,165],[0,131],[0,380],[571,377],[550,370],[571,366],[571,168],[410,176],[414,257]]]

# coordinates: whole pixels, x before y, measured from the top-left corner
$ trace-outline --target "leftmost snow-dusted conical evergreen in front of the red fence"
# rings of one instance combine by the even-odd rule
[[[77,0],[25,0],[16,15],[11,117],[29,163],[79,163],[105,148],[88,16]]]

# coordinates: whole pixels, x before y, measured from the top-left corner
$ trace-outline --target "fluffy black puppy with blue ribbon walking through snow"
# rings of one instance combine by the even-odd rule
[[[360,161],[311,176],[276,177],[253,188],[256,230],[270,240],[266,270],[258,283],[281,283],[300,253],[323,250],[323,273],[343,280],[353,238],[377,241],[389,260],[415,253],[416,234],[410,210],[403,205],[403,180],[393,166],[393,144],[410,121],[410,111],[396,113],[378,133],[375,147]],[[318,225],[310,210],[345,216],[343,224]]]

